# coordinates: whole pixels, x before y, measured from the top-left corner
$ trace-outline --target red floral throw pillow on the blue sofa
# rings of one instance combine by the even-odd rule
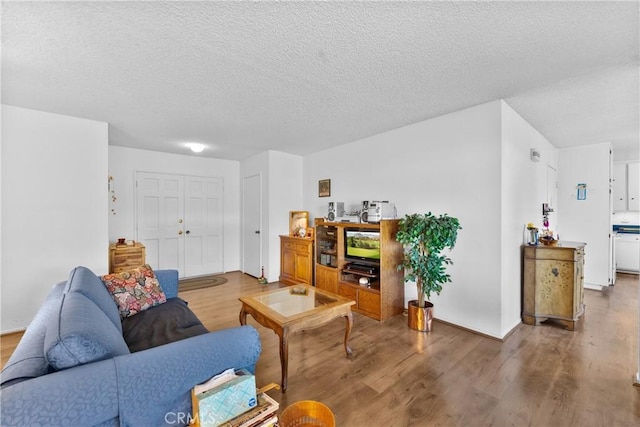
[[[116,302],[122,319],[167,301],[148,264],[121,273],[106,274],[100,279]]]

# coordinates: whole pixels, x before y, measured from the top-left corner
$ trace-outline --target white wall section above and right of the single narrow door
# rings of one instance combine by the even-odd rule
[[[289,211],[306,210],[302,203],[302,157],[266,151],[241,163],[241,180],[262,176],[262,263],[269,282],[280,275],[280,235],[289,233]],[[241,236],[242,240],[242,236]]]

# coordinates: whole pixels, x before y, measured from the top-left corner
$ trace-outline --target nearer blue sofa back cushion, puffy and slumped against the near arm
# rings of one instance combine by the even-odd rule
[[[66,293],[47,326],[44,352],[56,370],[129,354],[120,331],[90,299]]]

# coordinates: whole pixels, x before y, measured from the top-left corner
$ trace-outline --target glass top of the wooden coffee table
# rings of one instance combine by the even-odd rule
[[[252,295],[252,298],[284,317],[305,313],[314,308],[338,301],[310,286],[288,286],[271,292]]]

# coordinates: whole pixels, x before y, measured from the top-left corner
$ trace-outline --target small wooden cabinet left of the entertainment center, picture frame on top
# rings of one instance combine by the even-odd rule
[[[280,281],[313,285],[313,239],[280,236]]]

